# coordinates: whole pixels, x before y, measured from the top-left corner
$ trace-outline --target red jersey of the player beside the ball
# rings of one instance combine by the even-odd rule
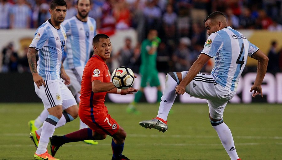
[[[83,70],[81,80],[80,109],[93,108],[93,113],[107,110],[105,96],[107,92],[93,93],[92,81],[111,82],[111,74],[106,63],[97,55],[92,56]]]

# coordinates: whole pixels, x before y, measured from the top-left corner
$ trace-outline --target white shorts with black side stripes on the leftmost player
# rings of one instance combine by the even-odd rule
[[[70,106],[77,105],[76,99],[71,94],[69,88],[63,83],[63,79],[44,81],[44,85],[39,88],[34,83],[35,93],[42,100],[44,108],[48,109],[56,105],[62,105],[63,110]]]

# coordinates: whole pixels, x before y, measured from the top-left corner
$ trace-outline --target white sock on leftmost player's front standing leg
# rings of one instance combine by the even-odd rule
[[[55,131],[55,125],[44,121],[42,125],[42,133],[36,150],[36,154],[43,154],[47,151],[47,145],[49,143],[49,137],[51,137]],[[36,131],[37,132],[37,131]]]

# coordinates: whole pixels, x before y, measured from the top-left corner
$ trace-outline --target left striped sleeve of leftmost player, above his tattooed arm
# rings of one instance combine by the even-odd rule
[[[46,44],[48,44],[48,35],[46,29],[44,28],[37,29],[29,47],[33,47],[39,51]]]

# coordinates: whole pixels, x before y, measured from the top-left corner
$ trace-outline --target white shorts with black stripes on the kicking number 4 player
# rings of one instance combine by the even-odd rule
[[[188,71],[181,72],[182,79]],[[229,91],[214,81],[212,75],[198,73],[197,76],[187,85],[186,93],[192,97],[206,99],[209,106],[209,113],[213,119],[219,120],[223,117],[224,108],[231,100],[236,91]]]

